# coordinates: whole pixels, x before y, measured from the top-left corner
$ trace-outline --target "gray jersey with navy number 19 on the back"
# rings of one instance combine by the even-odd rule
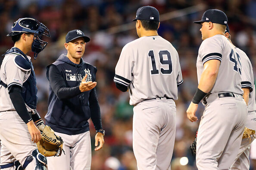
[[[145,99],[178,99],[183,82],[176,49],[161,36],[144,36],[122,49],[114,82],[129,86],[130,104]]]

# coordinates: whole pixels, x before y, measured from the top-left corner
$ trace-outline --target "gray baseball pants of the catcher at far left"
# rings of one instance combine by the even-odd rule
[[[23,165],[32,151],[37,149],[37,145],[31,141],[27,124],[16,111],[0,113],[0,140],[2,145],[0,165],[9,164],[16,160]],[[35,161],[31,161],[26,170],[34,170],[35,167]],[[4,170],[14,170],[14,167]]]

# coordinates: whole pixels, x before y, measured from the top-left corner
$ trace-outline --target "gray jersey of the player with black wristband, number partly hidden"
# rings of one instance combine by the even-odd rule
[[[210,93],[228,91],[243,94],[244,92],[241,89],[240,58],[237,56],[234,46],[225,36],[217,34],[205,39],[201,44],[197,57],[198,83],[203,73],[203,64],[212,59],[221,61],[221,64],[217,79]]]

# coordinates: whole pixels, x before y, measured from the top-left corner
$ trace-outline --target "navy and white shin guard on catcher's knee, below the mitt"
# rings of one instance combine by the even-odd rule
[[[25,169],[29,163],[35,160],[36,167],[34,170],[47,170],[47,160],[44,155],[42,155],[38,149],[35,149],[30,156],[27,157],[25,163],[23,164],[23,168]]]

